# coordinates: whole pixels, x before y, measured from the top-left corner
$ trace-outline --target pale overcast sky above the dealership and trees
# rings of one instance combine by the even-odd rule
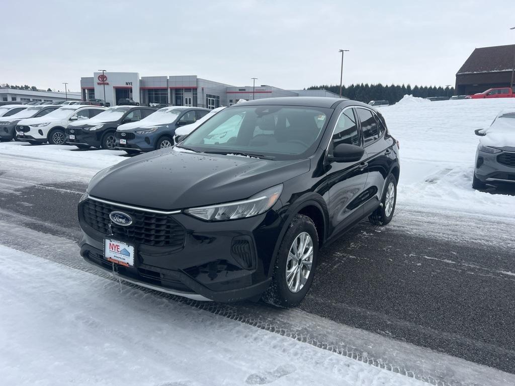
[[[393,4],[392,4],[393,3]],[[284,89],[454,84],[475,47],[515,44],[515,0],[20,1],[2,4],[0,83],[80,90],[99,68]]]

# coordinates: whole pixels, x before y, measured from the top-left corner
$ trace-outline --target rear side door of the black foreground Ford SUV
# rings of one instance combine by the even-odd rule
[[[393,138],[386,137],[386,127],[382,120],[370,109],[356,108],[359,126],[363,133],[367,164],[367,182],[363,199],[365,212],[377,207],[383,195],[383,188],[393,166],[391,147]]]

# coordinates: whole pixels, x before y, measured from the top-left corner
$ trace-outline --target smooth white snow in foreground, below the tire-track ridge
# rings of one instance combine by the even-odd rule
[[[423,385],[0,247],[3,385]]]

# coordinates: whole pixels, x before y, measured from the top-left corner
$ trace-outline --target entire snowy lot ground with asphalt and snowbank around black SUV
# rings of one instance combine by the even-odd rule
[[[400,142],[396,214],[324,249],[288,311],[181,302],[86,266],[77,201],[125,152],[1,143],[3,384],[515,384],[515,197],[471,186],[474,130],[505,108],[380,108]]]

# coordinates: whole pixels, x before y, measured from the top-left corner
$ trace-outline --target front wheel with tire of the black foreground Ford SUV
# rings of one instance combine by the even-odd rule
[[[311,218],[296,215],[284,234],[273,268],[272,283],[263,300],[279,307],[295,307],[313,282],[318,259],[318,234]]]

